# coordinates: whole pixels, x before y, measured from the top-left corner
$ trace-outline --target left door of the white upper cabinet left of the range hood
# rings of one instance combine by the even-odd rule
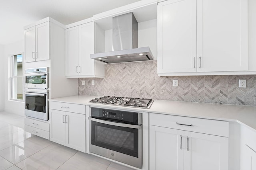
[[[78,75],[79,59],[79,29],[72,27],[65,30],[65,74]]]

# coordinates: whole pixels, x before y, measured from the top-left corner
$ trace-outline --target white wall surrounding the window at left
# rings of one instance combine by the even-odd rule
[[[10,56],[23,53],[24,40],[17,41],[8,45],[4,45],[4,110],[10,113],[24,115],[24,102],[16,102],[9,100],[10,96]]]

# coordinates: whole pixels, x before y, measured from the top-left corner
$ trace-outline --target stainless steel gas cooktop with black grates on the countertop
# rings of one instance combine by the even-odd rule
[[[90,100],[91,103],[98,104],[109,104],[116,106],[128,106],[128,107],[138,107],[149,109],[153,103],[152,99],[140,99],[140,98],[124,98],[124,97],[116,97],[116,96],[103,96],[100,98],[95,98]]]

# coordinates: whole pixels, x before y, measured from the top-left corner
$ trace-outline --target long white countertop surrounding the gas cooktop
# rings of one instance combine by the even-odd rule
[[[179,115],[187,117],[198,117],[204,119],[214,119],[223,121],[237,121],[246,125],[256,132],[256,107],[255,106],[237,106],[224,104],[202,104],[192,102],[174,102],[168,100],[154,100],[150,109],[141,109],[135,107],[111,106],[104,104],[89,103],[93,98],[101,96],[68,96],[64,98],[50,99],[49,101],[64,102],[72,104],[83,104],[89,106],[98,106],[109,109],[121,109],[124,111],[140,111],[150,113],[161,113],[169,115]]]

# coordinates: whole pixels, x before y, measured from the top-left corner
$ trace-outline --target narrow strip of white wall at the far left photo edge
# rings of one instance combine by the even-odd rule
[[[4,45],[0,45],[0,59],[4,60]],[[4,62],[0,62],[0,111],[4,111]]]

